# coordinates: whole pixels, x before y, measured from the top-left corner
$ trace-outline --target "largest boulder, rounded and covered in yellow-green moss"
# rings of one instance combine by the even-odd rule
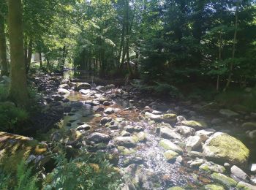
[[[219,163],[247,164],[249,149],[235,137],[217,132],[203,145],[203,155]]]

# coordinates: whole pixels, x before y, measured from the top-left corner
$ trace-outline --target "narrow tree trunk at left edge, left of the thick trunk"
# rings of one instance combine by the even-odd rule
[[[8,75],[7,45],[4,32],[4,17],[0,14],[0,66],[1,75]]]

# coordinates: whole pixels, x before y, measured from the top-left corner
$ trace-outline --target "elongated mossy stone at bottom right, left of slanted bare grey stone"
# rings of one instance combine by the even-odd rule
[[[211,174],[211,179],[214,180],[216,183],[222,184],[227,189],[235,188],[238,184],[236,180],[233,180],[232,178],[229,178],[226,175],[217,172]]]

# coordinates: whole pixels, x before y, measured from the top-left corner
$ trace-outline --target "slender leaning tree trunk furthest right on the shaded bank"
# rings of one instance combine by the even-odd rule
[[[233,48],[232,48],[232,59],[235,58],[235,53],[236,53],[237,30],[238,30],[238,4],[236,5],[236,21],[235,21],[235,31],[234,31]],[[228,75],[227,84],[223,91],[226,91],[227,88],[230,86],[232,75],[233,75],[233,61],[230,63],[230,74]]]

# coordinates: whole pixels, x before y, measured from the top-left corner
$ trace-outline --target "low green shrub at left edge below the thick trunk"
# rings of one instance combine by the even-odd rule
[[[29,118],[29,113],[19,107],[16,107],[12,102],[0,102],[0,131],[10,132],[15,130],[17,123],[22,123]]]

